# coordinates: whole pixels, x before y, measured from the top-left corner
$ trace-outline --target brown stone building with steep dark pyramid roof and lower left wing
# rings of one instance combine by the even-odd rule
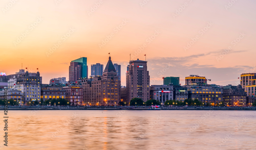
[[[83,103],[86,105],[118,105],[121,81],[109,57],[102,76],[77,80],[76,86],[83,88]]]

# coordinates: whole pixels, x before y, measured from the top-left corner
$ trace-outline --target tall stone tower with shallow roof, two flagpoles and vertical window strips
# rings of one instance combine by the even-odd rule
[[[126,73],[127,100],[141,98],[143,101],[150,99],[150,75],[147,71],[147,61],[130,61]]]

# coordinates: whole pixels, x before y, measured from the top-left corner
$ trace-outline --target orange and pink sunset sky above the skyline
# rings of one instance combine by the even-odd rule
[[[91,64],[105,68],[109,52],[121,65],[122,85],[130,53],[132,60],[146,54],[151,85],[190,74],[237,85],[241,73],[256,72],[256,1],[16,1],[0,2],[0,72],[7,75],[23,64],[39,68],[43,83],[68,80],[72,60],[87,57],[90,75]]]

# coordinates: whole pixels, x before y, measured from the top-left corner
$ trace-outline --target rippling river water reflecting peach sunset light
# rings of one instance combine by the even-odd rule
[[[8,114],[8,148],[1,147],[2,142],[2,149],[255,149],[256,146],[256,111],[21,110]],[[4,127],[3,121],[1,126]]]

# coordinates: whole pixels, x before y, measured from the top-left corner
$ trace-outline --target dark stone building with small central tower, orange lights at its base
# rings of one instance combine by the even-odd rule
[[[226,106],[246,106],[246,97],[246,92],[240,84],[223,86],[223,102]]]

